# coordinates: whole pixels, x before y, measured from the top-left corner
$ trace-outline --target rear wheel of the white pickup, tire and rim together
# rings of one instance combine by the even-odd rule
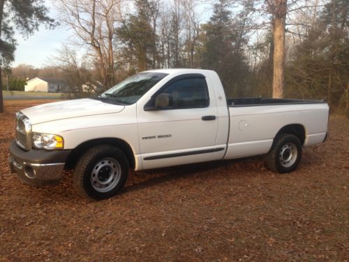
[[[290,173],[302,159],[302,144],[297,136],[281,133],[267,154],[267,167],[274,173]]]

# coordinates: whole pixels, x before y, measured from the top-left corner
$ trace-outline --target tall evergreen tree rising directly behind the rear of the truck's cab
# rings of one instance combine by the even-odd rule
[[[201,67],[216,71],[230,96],[243,96],[248,73],[241,48],[245,40],[241,27],[235,27],[239,17],[232,19],[228,2],[220,0],[216,3],[209,22],[202,25]]]

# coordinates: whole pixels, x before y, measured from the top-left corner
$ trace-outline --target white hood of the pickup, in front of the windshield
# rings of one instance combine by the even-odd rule
[[[103,103],[94,99],[75,99],[54,103],[44,103],[43,105],[36,105],[21,110],[21,112],[29,117],[31,124],[39,124],[87,115],[116,113],[121,112],[124,108],[124,105]]]

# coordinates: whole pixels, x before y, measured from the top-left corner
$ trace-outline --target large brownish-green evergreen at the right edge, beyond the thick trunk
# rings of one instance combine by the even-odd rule
[[[331,108],[349,101],[349,2],[332,0],[292,52],[287,92],[326,99]]]

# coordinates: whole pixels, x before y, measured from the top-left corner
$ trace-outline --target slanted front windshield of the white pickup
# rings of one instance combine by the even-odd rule
[[[166,75],[168,74],[154,72],[138,73],[114,85],[114,87],[108,89],[99,97],[110,98],[115,100],[115,102],[131,105],[137,102],[138,99],[147,93],[151,87],[154,87],[157,82],[165,78]]]

